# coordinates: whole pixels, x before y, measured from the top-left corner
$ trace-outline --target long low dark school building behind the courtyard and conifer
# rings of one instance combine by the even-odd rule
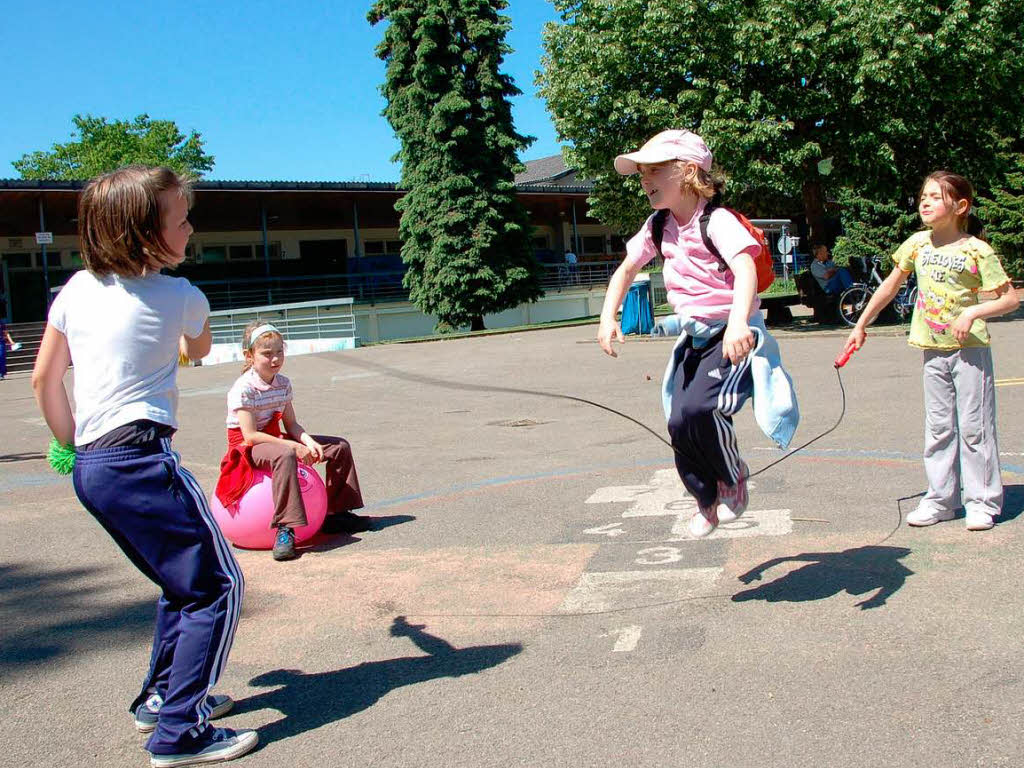
[[[77,202],[84,184],[0,179],[0,317],[43,319],[47,296],[81,267]],[[581,274],[606,283],[624,245],[587,216],[592,182],[554,156],[527,163],[516,185],[534,225],[535,254],[547,266],[545,285],[579,282]],[[215,309],[339,297],[404,300],[394,210],[402,194],[397,184],[375,181],[200,181],[189,216],[196,233],[176,273],[199,285]],[[580,262],[571,274],[570,251]],[[600,268],[585,268],[591,266]]]

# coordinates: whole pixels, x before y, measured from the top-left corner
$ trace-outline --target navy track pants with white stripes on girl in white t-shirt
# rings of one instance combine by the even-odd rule
[[[83,506],[163,590],[150,672],[131,710],[160,694],[160,722],[146,750],[187,752],[210,727],[207,694],[231,648],[242,569],[170,439],[80,452],[74,482]]]

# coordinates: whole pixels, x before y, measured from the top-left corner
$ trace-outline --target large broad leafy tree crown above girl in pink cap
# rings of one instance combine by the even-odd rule
[[[555,6],[538,82],[593,213],[624,231],[644,211],[611,160],[665,128],[700,132],[734,199],[793,201],[814,237],[840,196],[899,207],[942,166],[984,184],[1024,118],[1018,0]]]

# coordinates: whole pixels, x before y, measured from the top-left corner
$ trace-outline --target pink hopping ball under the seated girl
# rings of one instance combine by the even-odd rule
[[[295,542],[301,544],[312,539],[324,524],[324,518],[327,517],[327,487],[312,467],[300,464],[298,474],[302,503],[306,507],[306,524],[295,528]],[[230,509],[224,507],[214,494],[210,500],[210,509],[221,532],[236,547],[271,549],[278,531],[270,527],[273,519],[270,473],[257,469],[253,473],[253,480],[252,486],[238,506]]]

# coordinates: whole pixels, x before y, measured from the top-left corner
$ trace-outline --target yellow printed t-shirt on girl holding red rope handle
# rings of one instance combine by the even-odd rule
[[[918,272],[918,301],[910,321],[911,346],[922,349],[987,347],[988,327],[976,319],[961,344],[950,326],[965,307],[978,303],[979,291],[994,291],[1009,282],[995,251],[982,240],[968,238],[936,248],[928,229],[910,236],[893,261],[905,272]]]

